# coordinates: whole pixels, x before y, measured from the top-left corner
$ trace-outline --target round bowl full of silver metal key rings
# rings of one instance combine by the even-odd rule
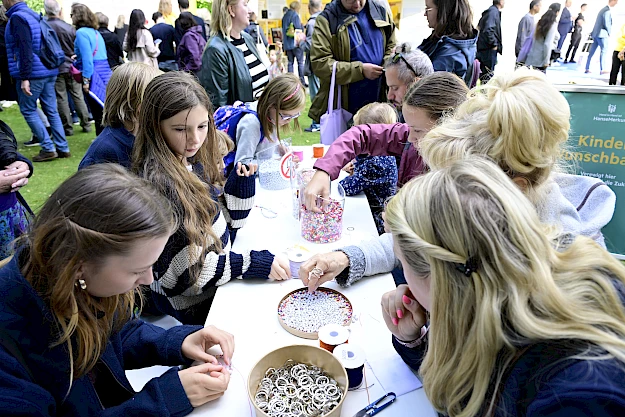
[[[347,372],[330,352],[316,346],[285,346],[254,365],[247,381],[257,416],[339,417]]]

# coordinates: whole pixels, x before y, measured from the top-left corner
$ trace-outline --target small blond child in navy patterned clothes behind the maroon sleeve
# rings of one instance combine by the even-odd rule
[[[388,103],[367,104],[354,116],[354,125],[397,123],[397,111]],[[386,201],[397,192],[397,163],[393,156],[359,155],[353,173],[341,180],[345,195],[365,193],[379,234],[384,233],[382,212]]]

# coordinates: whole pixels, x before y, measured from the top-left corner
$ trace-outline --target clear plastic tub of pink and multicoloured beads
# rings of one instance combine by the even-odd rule
[[[317,197],[319,212],[300,207],[300,227],[302,237],[309,242],[331,243],[341,238],[343,233],[343,209],[345,190],[338,182],[333,182],[328,198]]]

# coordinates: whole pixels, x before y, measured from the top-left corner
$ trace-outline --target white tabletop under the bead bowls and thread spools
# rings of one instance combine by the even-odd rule
[[[304,148],[311,152],[310,148]],[[312,252],[327,252],[334,248],[374,238],[377,231],[364,195],[348,197],[345,203],[343,236],[332,244],[313,244],[300,236],[299,222],[291,215],[290,190],[267,191],[257,188],[256,204],[278,213],[266,218],[255,207],[248,223],[237,235],[233,251],[268,249],[279,253],[293,244],[301,244]],[[349,228],[349,231],[347,231]],[[345,294],[354,307],[355,322],[351,326],[350,343],[361,346],[367,360],[394,354],[391,333],[382,319],[381,295],[395,287],[390,274],[366,278],[349,287],[340,288],[336,283],[325,284]],[[288,292],[301,288],[298,279],[283,282],[233,281],[217,290],[207,324],[222,328],[235,336],[236,349],[233,357],[233,373],[225,395],[193,411],[192,416],[244,417],[254,416],[247,396],[247,377],[256,362],[270,351],[286,345],[308,344],[318,346],[318,341],[301,339],[286,332],[278,322],[277,306]],[[171,325],[172,323],[169,323]],[[135,389],[148,380],[162,374],[166,367],[128,372]],[[367,366],[367,384],[370,400],[365,390],[350,391],[344,401],[341,416],[352,417],[360,409],[384,395],[385,389]],[[364,385],[363,385],[364,387]],[[419,415],[436,416],[423,389],[400,396],[385,409],[383,417]]]

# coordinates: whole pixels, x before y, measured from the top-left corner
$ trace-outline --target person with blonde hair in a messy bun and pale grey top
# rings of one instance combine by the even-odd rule
[[[570,117],[547,78],[521,68],[474,90],[419,148],[431,169],[488,156],[524,190],[543,222],[605,247],[601,229],[612,219],[616,196],[597,178],[562,172]]]

